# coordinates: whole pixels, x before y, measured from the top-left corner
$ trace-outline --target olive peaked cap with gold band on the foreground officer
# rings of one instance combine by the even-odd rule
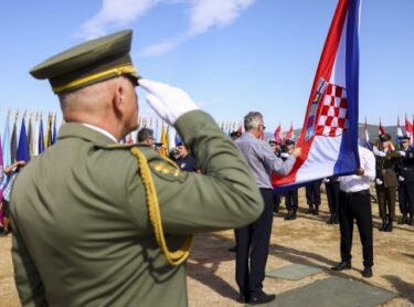
[[[125,30],[87,41],[40,63],[30,74],[49,78],[55,94],[119,75],[128,75],[136,82],[139,75],[129,56],[131,39],[132,31]]]

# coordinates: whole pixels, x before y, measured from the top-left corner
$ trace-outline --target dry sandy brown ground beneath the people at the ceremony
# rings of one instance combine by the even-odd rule
[[[362,251],[357,227],[353,234],[353,269],[333,273],[329,269],[339,260],[339,226],[328,225],[328,207],[322,194],[319,216],[306,214],[304,189],[299,190],[299,215],[284,221],[275,215],[267,269],[288,264],[326,267],[321,273],[301,280],[266,278],[266,293],[282,294],[332,275],[361,280],[399,296],[382,306],[414,306],[414,226],[395,225],[392,233],[379,232],[378,204],[372,203],[374,219],[374,263],[372,278],[361,276]],[[399,210],[396,210],[399,212]],[[399,215],[399,214],[397,214]],[[234,280],[233,231],[198,235],[188,261],[188,295],[190,306],[242,306],[236,301]],[[13,282],[10,258],[11,240],[0,237],[0,301],[1,306],[20,306]],[[277,298],[276,298],[277,299]],[[335,304],[332,304],[335,305]]]

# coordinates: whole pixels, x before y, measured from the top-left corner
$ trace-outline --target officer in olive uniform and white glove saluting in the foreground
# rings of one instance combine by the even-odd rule
[[[12,190],[23,306],[185,306],[191,234],[241,227],[263,211],[238,149],[179,88],[139,80],[202,174],[146,145],[117,145],[137,129],[131,34],[86,42],[31,71],[49,78],[66,124]]]

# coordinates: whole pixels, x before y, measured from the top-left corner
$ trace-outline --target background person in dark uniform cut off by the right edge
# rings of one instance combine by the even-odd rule
[[[396,165],[399,179],[399,201],[403,216],[399,224],[414,225],[414,148],[410,147],[410,137],[404,136],[400,142],[400,159]]]

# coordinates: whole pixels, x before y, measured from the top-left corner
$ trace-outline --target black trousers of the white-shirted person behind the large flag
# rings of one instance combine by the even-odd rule
[[[362,243],[363,265],[372,266],[372,212],[369,191],[339,193],[339,229],[341,232],[341,258],[351,261],[353,220],[357,221]]]

